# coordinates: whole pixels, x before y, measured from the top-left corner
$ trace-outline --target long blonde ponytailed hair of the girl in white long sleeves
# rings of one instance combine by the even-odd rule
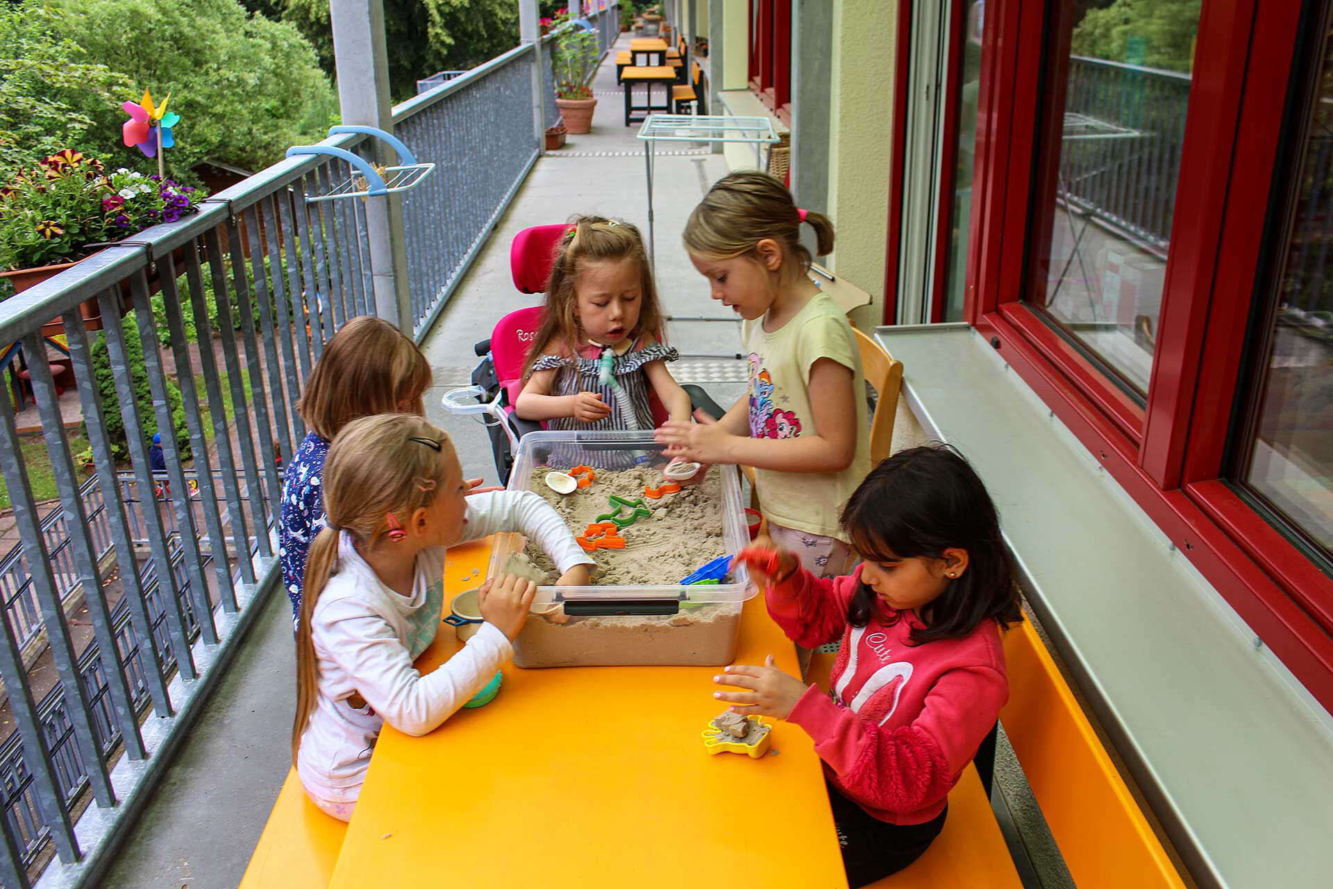
[[[305,562],[301,614],[296,629],[296,718],[292,764],[301,734],[319,700],[319,660],[311,634],[315,606],[339,572],[339,537],[352,534],[363,550],[388,534],[388,514],[401,524],[435,502],[451,470],[459,466],[449,436],[411,413],[381,413],[347,424],[324,461],[325,525],[311,544]],[[457,469],[461,477],[461,468]]]

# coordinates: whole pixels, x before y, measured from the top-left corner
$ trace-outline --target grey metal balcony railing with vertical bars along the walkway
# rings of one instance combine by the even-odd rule
[[[605,52],[619,33],[616,7],[588,19]],[[395,108],[396,135],[436,164],[403,201],[419,341],[539,156],[535,115],[556,120],[551,40]],[[361,153],[363,140],[325,144]],[[0,399],[0,470],[21,540],[0,558],[0,680],[16,725],[0,741],[0,884],[9,889],[31,885],[52,852],[61,885],[104,866],[115,822],[133,808],[127,800],[151,790],[167,758],[156,754],[187,728],[228,660],[221,652],[280,585],[275,466],[305,435],[301,387],[328,339],[375,311],[363,201],[308,200],[349,176],[337,159],[284,160],[208,199],[197,215],[0,304],[0,340],[23,347],[60,493],[59,508],[39,509],[13,404]],[[99,304],[101,332],[85,328],[85,301]],[[96,469],[89,480],[76,472],[41,332],[56,319]],[[124,441],[112,440],[99,397],[96,337]],[[132,364],[135,339],[143,361]],[[148,417],[135,400],[145,384],[165,473],[148,461]],[[172,384],[185,460],[168,432]],[[67,617],[79,597],[92,625],[81,648]],[[39,698],[23,649],[43,633],[59,681]]]

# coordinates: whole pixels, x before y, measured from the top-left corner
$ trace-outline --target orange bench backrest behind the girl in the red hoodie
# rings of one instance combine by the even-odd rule
[[[1184,889],[1032,622],[1005,633],[1004,649],[1009,702],[1000,724],[1074,882]]]

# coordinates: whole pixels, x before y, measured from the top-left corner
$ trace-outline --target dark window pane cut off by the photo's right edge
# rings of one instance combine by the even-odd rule
[[[1292,212],[1277,299],[1261,320],[1241,480],[1333,554],[1333,41],[1293,123]]]

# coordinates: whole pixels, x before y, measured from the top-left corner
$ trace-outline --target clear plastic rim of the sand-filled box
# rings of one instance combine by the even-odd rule
[[[569,445],[576,445],[580,460],[568,460]],[[647,432],[529,432],[519,441],[519,453],[513,470],[509,473],[509,490],[531,490],[528,481],[537,466],[571,469],[587,464],[595,469],[599,461],[605,465],[609,453],[639,453],[648,457],[653,465],[665,465],[663,445],[653,441],[652,431]],[[740,552],[749,542],[749,529],[745,524],[745,509],[741,505],[741,486],[736,466],[716,466],[722,482],[722,545],[729,553]],[[527,538],[516,532],[496,534],[496,545],[491,550],[488,577],[495,577],[500,565],[511,553],[523,552]],[[701,568],[696,565],[694,568]],[[597,601],[597,600],[677,600],[682,602],[742,602],[752,598],[757,589],[750,584],[744,565],[732,572],[730,584],[666,584],[655,586],[539,586],[536,604],[556,601]]]

